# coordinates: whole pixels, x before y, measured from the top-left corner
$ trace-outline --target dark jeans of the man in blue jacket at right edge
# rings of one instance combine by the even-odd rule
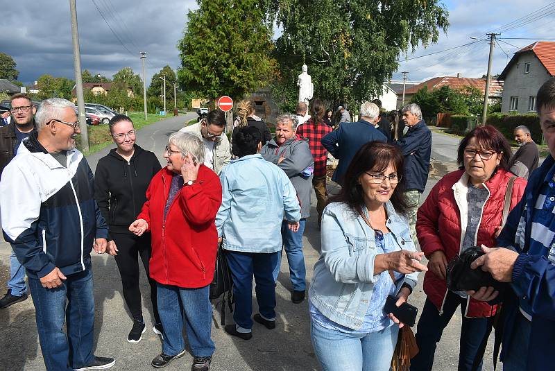
[[[520,311],[515,317],[509,349],[503,351],[503,371],[526,370],[527,366],[531,322]]]

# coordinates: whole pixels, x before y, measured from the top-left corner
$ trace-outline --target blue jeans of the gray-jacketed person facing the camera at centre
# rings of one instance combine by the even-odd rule
[[[282,239],[287,254],[287,261],[289,261],[289,275],[291,276],[291,284],[293,290],[305,291],[307,289],[307,268],[305,268],[305,256],[302,254],[302,234],[305,233],[306,219],[299,221],[299,230],[291,232],[288,227],[287,221],[282,223]],[[274,282],[278,281],[280,274],[280,266],[282,265],[282,253],[278,254],[278,264],[273,270]]]

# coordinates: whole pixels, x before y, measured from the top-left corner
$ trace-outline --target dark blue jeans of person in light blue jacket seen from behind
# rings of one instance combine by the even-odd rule
[[[258,311],[262,317],[275,319],[275,286],[272,270],[278,264],[278,252],[264,254],[262,252],[225,251],[228,265],[233,277],[233,295],[235,325],[244,332],[253,328],[253,275],[256,282],[256,300]]]

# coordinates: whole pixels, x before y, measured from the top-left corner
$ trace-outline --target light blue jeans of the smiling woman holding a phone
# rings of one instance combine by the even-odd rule
[[[311,340],[323,371],[389,371],[399,327],[370,334],[346,334],[311,321]]]

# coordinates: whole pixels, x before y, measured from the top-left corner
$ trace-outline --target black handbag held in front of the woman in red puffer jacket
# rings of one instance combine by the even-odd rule
[[[493,279],[491,273],[484,272],[480,268],[472,269],[470,264],[484,252],[478,246],[472,246],[457,255],[447,265],[447,287],[451,291],[477,291],[483,286],[492,286],[497,291],[502,291],[506,283]]]

